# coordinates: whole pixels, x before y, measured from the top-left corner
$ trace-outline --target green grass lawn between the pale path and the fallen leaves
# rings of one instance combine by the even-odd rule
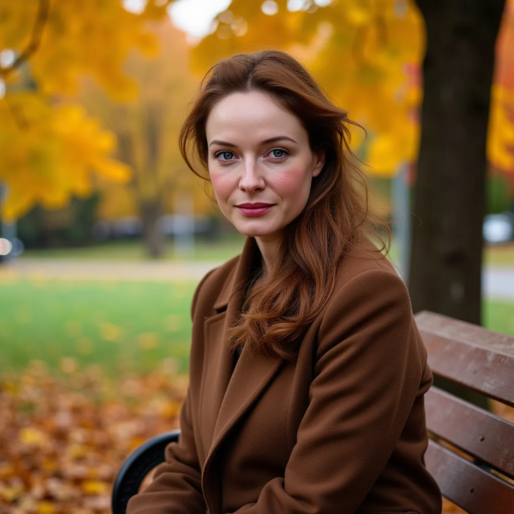
[[[0,283],[0,373],[30,359],[59,370],[101,364],[109,376],[144,373],[167,358],[188,371],[195,282],[25,279]],[[484,325],[514,334],[514,304],[486,302]],[[69,367],[70,359],[67,360]]]

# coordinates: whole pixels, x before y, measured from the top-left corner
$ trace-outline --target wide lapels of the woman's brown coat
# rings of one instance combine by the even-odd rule
[[[209,366],[216,366],[214,381],[205,384],[204,395],[208,398],[213,409],[219,406],[219,412],[214,425],[212,444],[206,457],[202,475],[202,487],[206,499],[212,499],[210,505],[212,514],[216,512],[219,498],[213,494],[219,493],[215,485],[219,473],[216,468],[216,451],[228,436],[237,421],[252,406],[267,384],[278,372],[283,358],[278,356],[252,355],[248,348],[243,347],[240,358],[232,373],[233,356],[226,344],[226,334],[235,316],[241,310],[244,302],[244,285],[252,271],[255,259],[260,259],[260,250],[254,237],[247,237],[240,259],[237,261],[231,276],[226,280],[218,295],[214,308],[222,310],[226,307],[225,317],[215,314],[216,320],[207,318],[204,332],[207,348],[206,354]],[[211,321],[210,321],[211,320]],[[214,323],[212,323],[214,321]],[[208,328],[208,329],[207,329]],[[220,403],[221,402],[221,403]],[[203,405],[206,405],[203,401]],[[209,423],[205,419],[206,424]],[[210,502],[209,502],[210,503]]]

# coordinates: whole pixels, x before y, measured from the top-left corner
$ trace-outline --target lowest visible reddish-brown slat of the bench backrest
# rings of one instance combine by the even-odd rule
[[[429,440],[427,469],[443,496],[470,514],[507,514],[514,509],[514,485]]]

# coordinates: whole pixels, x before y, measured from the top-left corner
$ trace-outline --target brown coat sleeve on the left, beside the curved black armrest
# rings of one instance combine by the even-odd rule
[[[200,287],[212,271],[195,289],[191,302],[193,322]],[[165,462],[155,468],[150,485],[128,501],[126,514],[205,514],[207,511],[193,434],[189,387],[180,407],[179,423],[178,443],[166,447]]]

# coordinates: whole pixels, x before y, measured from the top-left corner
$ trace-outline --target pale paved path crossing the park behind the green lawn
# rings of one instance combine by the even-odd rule
[[[71,280],[192,280],[222,262],[145,262],[76,259],[19,259],[0,266],[0,280],[5,278]],[[486,298],[514,301],[514,265],[489,266],[482,274]]]

